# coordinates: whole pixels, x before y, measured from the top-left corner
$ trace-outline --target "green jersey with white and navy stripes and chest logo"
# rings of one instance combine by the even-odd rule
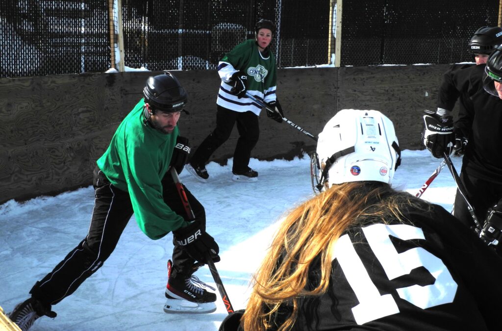
[[[272,52],[264,56],[255,40],[246,40],[235,46],[218,63],[221,84],[216,103],[235,112],[251,111],[260,115],[262,107],[248,97],[238,98],[230,93],[233,87],[231,76],[241,71],[246,74],[247,92],[265,102],[276,100],[277,67]]]

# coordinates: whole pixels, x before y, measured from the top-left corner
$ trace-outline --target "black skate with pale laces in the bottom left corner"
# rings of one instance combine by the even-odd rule
[[[7,314],[23,331],[32,327],[37,318],[41,316],[56,317],[56,313],[51,311],[51,306],[44,306],[35,298],[29,298],[14,307],[14,310]]]

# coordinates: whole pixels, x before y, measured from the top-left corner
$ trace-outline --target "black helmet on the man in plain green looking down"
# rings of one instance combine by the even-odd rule
[[[148,77],[143,89],[145,103],[152,107],[152,111],[175,113],[183,110],[188,102],[188,96],[180,82],[170,72]]]

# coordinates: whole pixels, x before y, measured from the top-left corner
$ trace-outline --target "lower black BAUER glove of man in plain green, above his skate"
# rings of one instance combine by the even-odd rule
[[[202,229],[199,222],[192,222],[188,227],[175,230],[173,235],[178,245],[193,259],[206,263],[206,255],[209,253],[213,262],[220,260],[218,244]]]

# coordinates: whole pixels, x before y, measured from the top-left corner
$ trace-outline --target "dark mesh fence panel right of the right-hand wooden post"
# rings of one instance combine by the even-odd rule
[[[472,61],[467,43],[497,26],[498,0],[344,0],[340,65]]]

